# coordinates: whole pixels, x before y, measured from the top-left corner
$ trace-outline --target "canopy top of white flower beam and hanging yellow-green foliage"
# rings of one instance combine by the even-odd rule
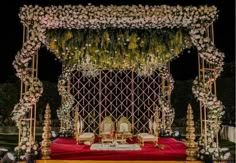
[[[78,64],[82,70],[132,69],[143,74],[144,70],[165,65],[184,48],[196,46],[193,39],[201,39],[197,47],[203,48],[209,40],[200,36],[217,18],[217,9],[166,5],[24,6],[19,16],[22,24],[32,29],[34,40],[30,42],[34,44],[27,46],[29,50],[36,42],[37,46],[43,43],[60,60]],[[220,56],[210,59],[222,64]]]

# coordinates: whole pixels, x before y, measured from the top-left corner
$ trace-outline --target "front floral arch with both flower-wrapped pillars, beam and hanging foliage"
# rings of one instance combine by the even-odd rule
[[[96,75],[97,70],[103,67],[120,69],[122,66],[123,69],[135,70],[139,75],[151,75],[152,71],[165,69],[167,63],[178,57],[185,45],[195,46],[199,54],[199,76],[194,80],[192,88],[195,97],[200,101],[202,113],[199,151],[201,154],[208,152],[214,159],[221,158],[217,133],[224,106],[216,97],[215,82],[223,70],[224,54],[214,46],[213,22],[217,19],[217,12],[215,6],[23,6],[19,17],[24,26],[24,43],[13,63],[16,75],[22,81],[21,99],[15,105],[12,116],[19,126],[18,148],[21,148],[20,144],[25,141],[21,137],[26,136],[30,142],[28,151],[35,141],[36,119],[33,117],[36,114],[36,103],[43,92],[42,83],[37,78],[37,52],[42,44],[65,63],[70,64],[72,69],[80,69],[88,75]],[[64,29],[64,32],[54,35],[53,32],[59,29]],[[76,35],[74,30],[80,32]],[[160,31],[168,31],[165,35],[168,36],[166,44],[157,39],[163,36],[159,35]],[[81,36],[83,32],[88,34],[87,37]],[[84,41],[73,39],[75,35],[84,38],[85,42],[86,39],[93,39],[90,39],[91,44],[86,42],[80,44],[80,47],[74,47],[76,41]],[[96,35],[103,38],[101,42],[96,41]],[[114,38],[114,45],[127,52],[123,55],[123,60],[115,64],[110,62],[118,57],[115,46],[110,46],[110,41]],[[123,38],[121,43],[127,45],[119,44],[118,38]],[[147,42],[150,39],[151,41]],[[144,45],[141,40],[144,40]],[[112,58],[106,60],[103,57],[108,56],[109,49],[112,50]],[[143,53],[137,53],[137,49]],[[72,55],[69,56],[69,53]],[[135,60],[132,60],[134,58]],[[59,92],[64,97],[64,110],[69,109],[73,103],[73,97],[64,87],[69,71],[71,69],[64,71],[59,80]],[[168,76],[168,73],[166,75]],[[26,120],[26,114],[31,115],[28,119],[30,130],[24,135],[21,126]]]

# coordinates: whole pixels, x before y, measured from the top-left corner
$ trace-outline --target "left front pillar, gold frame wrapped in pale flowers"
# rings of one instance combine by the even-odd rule
[[[20,100],[12,111],[12,120],[19,128],[16,152],[20,159],[26,153],[38,154],[35,141],[36,103],[43,92],[42,83],[38,79],[38,31],[30,22],[23,24],[23,47],[13,62],[16,76],[21,80]]]

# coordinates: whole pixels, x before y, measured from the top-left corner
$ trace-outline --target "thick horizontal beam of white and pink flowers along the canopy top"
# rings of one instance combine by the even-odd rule
[[[23,6],[19,17],[22,24],[33,22],[46,29],[163,29],[192,28],[197,23],[205,26],[217,18],[215,6],[148,6],[65,5],[40,7]]]

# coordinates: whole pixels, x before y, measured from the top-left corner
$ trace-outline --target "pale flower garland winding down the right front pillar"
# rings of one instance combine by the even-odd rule
[[[228,159],[229,153],[217,148],[215,142],[222,123],[221,118],[225,112],[224,106],[216,95],[211,93],[213,82],[223,70],[224,54],[215,48],[214,43],[209,38],[204,37],[205,32],[206,28],[201,27],[200,24],[190,31],[192,42],[197,47],[200,57],[212,64],[215,69],[215,71],[207,72],[204,78],[199,79],[197,77],[193,81],[193,94],[207,108],[207,120],[211,122],[207,124],[206,135],[202,135],[199,140],[198,156],[203,159],[205,155],[209,155],[213,160],[225,160]],[[205,141],[207,144],[204,143]]]

